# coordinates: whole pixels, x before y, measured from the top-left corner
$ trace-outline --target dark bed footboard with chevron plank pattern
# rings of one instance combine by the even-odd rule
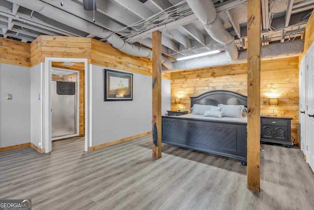
[[[234,158],[247,163],[247,123],[162,116],[163,143]]]

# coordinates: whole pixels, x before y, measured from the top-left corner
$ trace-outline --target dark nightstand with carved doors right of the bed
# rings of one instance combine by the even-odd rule
[[[291,147],[292,118],[261,116],[261,142],[271,142]]]

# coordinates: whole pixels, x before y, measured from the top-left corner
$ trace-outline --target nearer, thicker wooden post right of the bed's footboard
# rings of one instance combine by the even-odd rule
[[[261,0],[247,1],[247,188],[260,192]]]

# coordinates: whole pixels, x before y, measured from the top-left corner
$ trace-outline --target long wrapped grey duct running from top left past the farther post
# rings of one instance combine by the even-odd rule
[[[11,3],[23,6],[27,9],[36,11],[48,18],[51,18],[57,22],[70,26],[72,28],[85,31],[100,38],[107,39],[114,48],[120,51],[136,57],[147,57],[152,59],[152,50],[138,47],[136,45],[125,42],[117,34],[113,34],[112,31],[106,30],[103,27],[92,24],[89,21],[83,20],[77,16],[71,15],[61,9],[58,9],[48,3],[44,3],[40,0],[7,0]],[[167,69],[172,69],[172,63],[167,58],[163,57],[162,63]]]

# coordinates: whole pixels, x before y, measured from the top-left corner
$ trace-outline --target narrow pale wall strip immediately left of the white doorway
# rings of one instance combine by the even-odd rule
[[[42,87],[41,87],[41,66],[39,63],[30,68],[30,142],[43,148],[42,142]],[[38,94],[40,94],[40,99]],[[41,146],[39,146],[39,143]]]

